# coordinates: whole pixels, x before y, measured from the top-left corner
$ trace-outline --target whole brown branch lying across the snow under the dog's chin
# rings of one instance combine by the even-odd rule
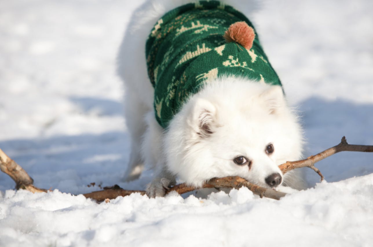
[[[280,170],[285,174],[296,168],[310,167],[312,170],[316,171],[320,175],[321,180],[323,180],[323,175],[319,169],[317,169],[314,164],[330,155],[341,151],[354,151],[354,152],[373,152],[373,146],[367,145],[351,145],[348,144],[345,137],[342,137],[341,143],[338,145],[326,149],[325,151],[303,159],[300,161],[287,161],[286,163],[279,165]],[[1,171],[8,174],[16,183],[16,189],[25,189],[33,193],[35,192],[46,192],[45,189],[39,189],[32,185],[32,178],[27,174],[23,168],[18,165],[15,161],[10,159],[1,149],[0,149],[0,168]],[[268,197],[272,199],[279,200],[281,197],[285,196],[286,193],[276,191],[273,189],[266,189],[255,184],[252,184],[241,177],[224,177],[224,178],[213,178],[204,184],[203,188],[235,188],[239,189],[242,186],[247,187],[249,190],[253,191],[254,194],[260,197]],[[178,184],[170,188],[167,193],[171,191],[176,191],[179,194],[184,194],[189,191],[193,191],[199,188],[188,186],[186,184]],[[103,201],[105,199],[114,199],[118,196],[128,196],[132,193],[145,194],[143,190],[123,190],[119,186],[113,186],[100,191],[94,191],[91,193],[83,194],[87,198],[91,198],[97,201]]]

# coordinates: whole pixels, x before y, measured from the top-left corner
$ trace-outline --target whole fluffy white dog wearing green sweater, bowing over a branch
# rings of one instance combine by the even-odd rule
[[[264,187],[303,188],[301,176],[278,168],[301,158],[297,116],[252,24],[230,7],[247,15],[255,5],[188,2],[148,1],[121,45],[118,73],[132,139],[125,180],[147,164],[156,174],[147,187],[152,197],[163,196],[176,177],[194,186],[240,176]]]

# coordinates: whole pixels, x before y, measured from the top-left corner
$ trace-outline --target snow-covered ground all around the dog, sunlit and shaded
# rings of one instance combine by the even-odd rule
[[[55,189],[0,173],[0,246],[372,246],[373,154],[339,153],[279,201],[242,188],[207,199],[83,196],[122,183],[129,156],[115,56],[142,1],[0,1],[0,148]],[[373,1],[266,1],[261,42],[303,118],[305,156],[373,145]],[[96,186],[88,187],[90,183]]]

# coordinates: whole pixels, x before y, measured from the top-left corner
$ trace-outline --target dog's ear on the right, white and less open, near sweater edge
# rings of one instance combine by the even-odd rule
[[[269,89],[260,94],[269,114],[277,114],[285,105],[285,97],[281,86],[271,86]]]

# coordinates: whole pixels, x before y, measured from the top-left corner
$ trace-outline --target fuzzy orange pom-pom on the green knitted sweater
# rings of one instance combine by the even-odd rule
[[[255,32],[246,22],[235,22],[229,26],[223,37],[227,43],[234,41],[250,50],[253,47]]]

